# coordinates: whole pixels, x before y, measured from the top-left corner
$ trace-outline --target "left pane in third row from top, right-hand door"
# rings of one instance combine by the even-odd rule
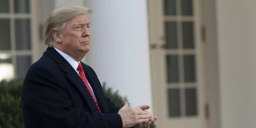
[[[179,82],[178,55],[167,55],[167,81],[168,83]]]

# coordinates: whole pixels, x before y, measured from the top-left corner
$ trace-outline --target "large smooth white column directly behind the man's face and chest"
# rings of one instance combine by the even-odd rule
[[[151,105],[146,0],[85,0],[84,5],[93,10],[86,63],[132,106]]]

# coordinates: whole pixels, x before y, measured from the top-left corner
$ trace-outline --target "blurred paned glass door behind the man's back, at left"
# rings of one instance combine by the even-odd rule
[[[0,80],[24,78],[36,55],[42,55],[42,9],[40,0],[1,0]]]

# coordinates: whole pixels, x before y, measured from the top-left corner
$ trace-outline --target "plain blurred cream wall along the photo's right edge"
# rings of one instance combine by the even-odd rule
[[[256,1],[216,7],[222,128],[255,128]]]

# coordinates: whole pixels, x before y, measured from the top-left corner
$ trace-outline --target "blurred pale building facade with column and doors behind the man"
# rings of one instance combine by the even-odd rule
[[[93,10],[82,61],[157,128],[256,127],[256,0],[0,0],[0,80],[25,77],[63,5]]]

